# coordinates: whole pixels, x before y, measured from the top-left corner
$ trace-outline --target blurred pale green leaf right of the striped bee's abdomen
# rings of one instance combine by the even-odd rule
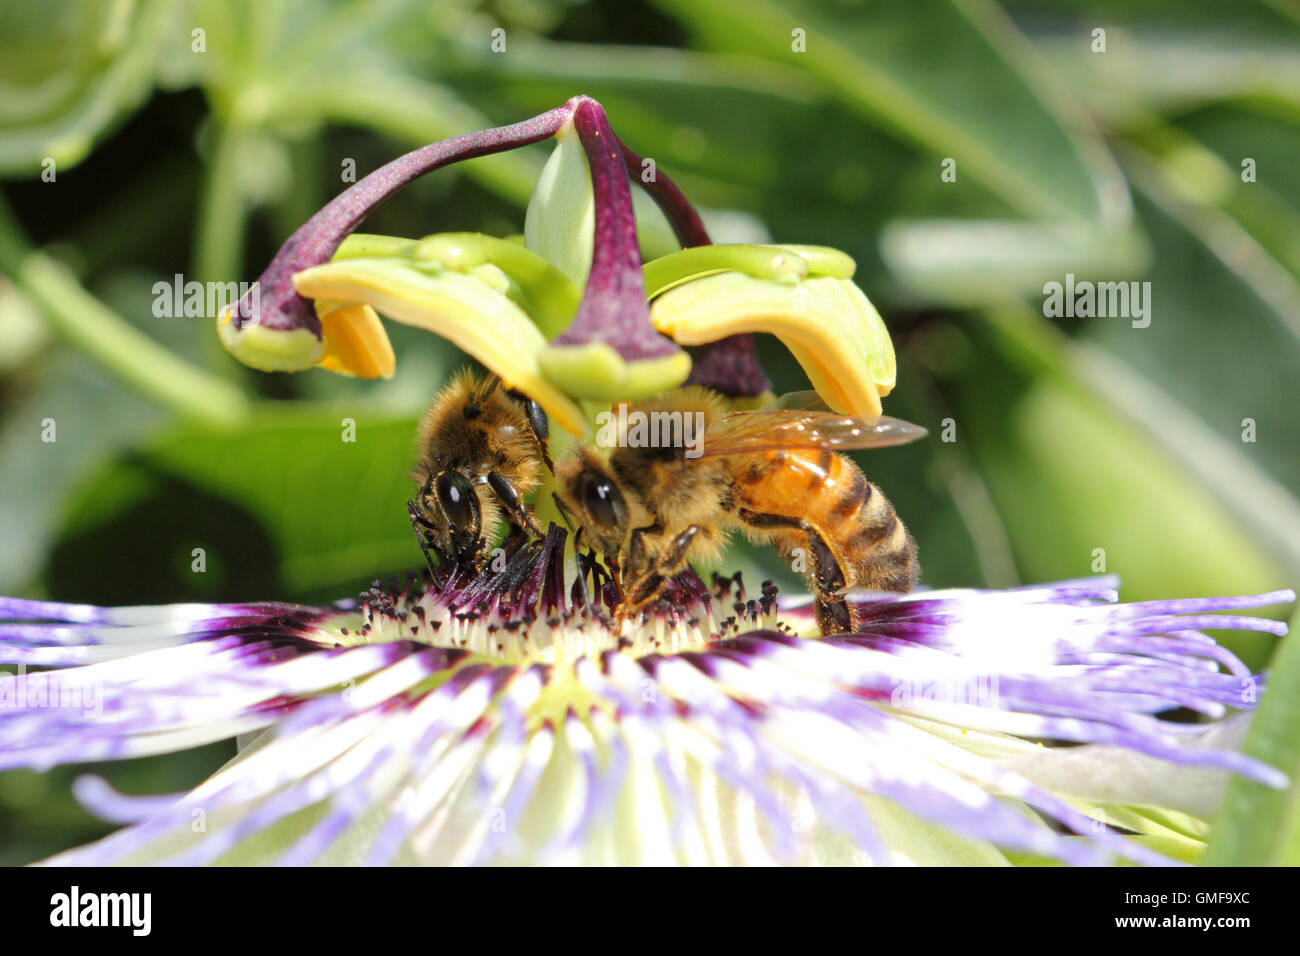
[[[1104,559],[1126,600],[1286,587],[1279,564],[1225,510],[1222,489],[1199,484],[1080,381],[1069,341],[1045,319],[987,317],[953,386],[957,441],[970,444],[1027,580],[1087,576]],[[1225,643],[1260,667],[1271,639]]]

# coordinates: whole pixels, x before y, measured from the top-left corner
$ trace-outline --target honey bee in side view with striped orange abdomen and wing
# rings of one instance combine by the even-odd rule
[[[858,623],[844,592],[915,587],[911,535],[880,489],[837,450],[898,445],[926,429],[890,418],[846,418],[819,407],[814,393],[728,414],[718,394],[688,386],[629,405],[625,416],[619,410],[621,421],[671,421],[673,414],[702,424],[698,445],[629,444],[620,425],[611,450],[584,446],[556,464],[564,510],[621,584],[620,617],[656,600],[688,562],[716,559],[733,531],[803,559],[824,635]]]

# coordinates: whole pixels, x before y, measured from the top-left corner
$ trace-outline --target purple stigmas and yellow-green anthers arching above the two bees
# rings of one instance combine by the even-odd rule
[[[411,241],[354,232],[424,173],[546,138],[556,147],[523,246],[464,233]],[[642,264],[628,170],[664,212],[680,252]],[[894,382],[893,346],[852,281],[853,260],[816,246],[714,246],[672,181],[640,172],[641,157],[586,96],[416,150],[298,229],[255,290],[218,316],[221,341],[264,371],[386,376],[395,358],[381,312],[450,339],[582,436],[584,399],[636,401],[688,378],[732,397],[766,393],[750,333],[771,332],[831,407],[879,416]],[[682,345],[701,346],[694,364]]]

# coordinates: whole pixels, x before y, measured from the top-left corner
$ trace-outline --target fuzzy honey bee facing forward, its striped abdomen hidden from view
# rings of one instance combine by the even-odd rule
[[[438,393],[419,429],[420,453],[407,502],[411,527],[429,570],[441,561],[482,570],[502,522],[541,537],[524,498],[551,467],[546,412],[497,376],[459,372]]]

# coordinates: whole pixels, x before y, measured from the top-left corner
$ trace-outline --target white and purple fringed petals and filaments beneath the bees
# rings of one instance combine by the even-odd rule
[[[1162,864],[1195,857],[1204,825],[1179,812],[1213,810],[1226,773],[1286,786],[1214,745],[1231,722],[1157,714],[1247,709],[1260,679],[1197,628],[1282,633],[1235,611],[1291,592],[875,596],[858,633],[820,639],[803,601],[686,574],[620,633],[603,568],[567,580],[564,537],[332,607],[3,600],[0,659],[48,670],[0,679],[0,767],[247,741],[188,793],[81,778],[130,825],[51,861],[87,865]],[[1187,805],[1062,770],[1102,748]]]

